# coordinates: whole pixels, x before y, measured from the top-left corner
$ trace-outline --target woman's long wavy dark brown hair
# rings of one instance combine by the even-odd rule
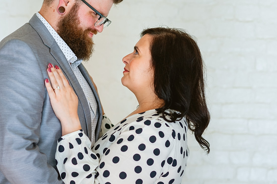
[[[210,144],[202,137],[210,121],[205,99],[203,61],[193,37],[183,29],[148,28],[141,36],[151,35],[150,54],[154,71],[154,88],[158,98],[164,100],[158,111],[168,122],[186,116],[189,129],[196,141],[207,153]],[[166,110],[172,109],[171,120],[165,118]]]

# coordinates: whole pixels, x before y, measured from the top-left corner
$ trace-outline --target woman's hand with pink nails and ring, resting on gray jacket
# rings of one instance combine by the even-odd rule
[[[81,128],[78,117],[78,97],[69,85],[61,69],[51,63],[48,64],[49,79],[45,79],[45,86],[55,115],[61,121],[62,135],[77,131]]]

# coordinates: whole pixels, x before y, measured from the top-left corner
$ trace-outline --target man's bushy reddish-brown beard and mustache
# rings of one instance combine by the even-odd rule
[[[89,37],[89,32],[97,34],[97,30],[79,27],[79,5],[75,4],[67,15],[61,17],[57,24],[57,32],[65,43],[71,48],[78,59],[88,61],[93,53],[94,43]]]

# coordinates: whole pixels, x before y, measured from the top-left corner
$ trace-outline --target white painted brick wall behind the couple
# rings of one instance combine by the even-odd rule
[[[0,39],[39,11],[42,0],[0,0]],[[125,0],[96,35],[86,68],[98,85],[106,114],[120,121],[138,105],[121,85],[122,57],[143,28],[167,25],[198,38],[207,66],[211,123],[206,156],[189,137],[183,183],[277,183],[277,1]],[[1,66],[0,66],[1,67]]]

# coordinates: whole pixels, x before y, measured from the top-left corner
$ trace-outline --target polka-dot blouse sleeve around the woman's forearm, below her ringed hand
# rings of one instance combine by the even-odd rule
[[[83,130],[66,134],[58,140],[55,157],[64,183],[94,183],[91,178],[96,177],[99,158],[90,147],[91,141]]]

